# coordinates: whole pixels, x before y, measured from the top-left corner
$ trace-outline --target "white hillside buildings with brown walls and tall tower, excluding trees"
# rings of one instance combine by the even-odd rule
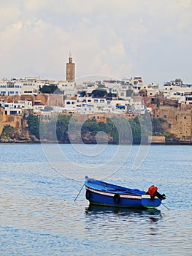
[[[2,136],[7,127],[18,131],[20,141],[29,138],[23,116],[49,118],[55,113],[75,115],[79,120],[86,115],[96,123],[106,123],[112,116],[133,119],[148,113],[166,123],[165,133],[153,132],[152,143],[166,143],[166,132],[172,135],[172,143],[192,143],[192,84],[181,78],[167,81],[162,88],[158,83],[144,83],[139,76],[77,83],[75,64],[69,56],[65,80],[0,80],[1,142],[18,141]]]

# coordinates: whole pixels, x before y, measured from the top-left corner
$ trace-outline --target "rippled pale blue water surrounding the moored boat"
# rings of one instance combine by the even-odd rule
[[[192,255],[191,146],[0,150],[0,255]],[[86,174],[131,188],[155,184],[170,211],[90,208],[84,189],[74,203]]]

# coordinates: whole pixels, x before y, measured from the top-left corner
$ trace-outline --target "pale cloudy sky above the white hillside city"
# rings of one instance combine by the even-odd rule
[[[0,78],[192,83],[192,0],[0,0]],[[90,79],[91,80],[91,79]]]

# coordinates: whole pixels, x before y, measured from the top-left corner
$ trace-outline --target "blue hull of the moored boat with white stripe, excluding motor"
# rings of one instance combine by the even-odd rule
[[[152,199],[150,195],[146,195],[145,192],[117,192],[114,187],[110,187],[110,191],[99,188],[98,184],[85,182],[85,197],[89,200],[91,205],[97,206],[110,206],[119,208],[156,208],[161,205],[161,200],[158,197]],[[118,187],[119,188],[119,187]],[[126,188],[123,188],[126,189]],[[114,190],[114,192],[112,192]],[[117,189],[118,190],[118,189]],[[119,189],[120,190],[120,189]],[[137,189],[134,189],[137,191]]]

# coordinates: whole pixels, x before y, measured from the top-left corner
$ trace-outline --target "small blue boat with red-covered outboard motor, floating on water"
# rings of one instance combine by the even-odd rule
[[[147,192],[139,189],[120,187],[85,176],[85,197],[91,205],[120,208],[156,208],[166,195],[161,195],[155,186]]]

